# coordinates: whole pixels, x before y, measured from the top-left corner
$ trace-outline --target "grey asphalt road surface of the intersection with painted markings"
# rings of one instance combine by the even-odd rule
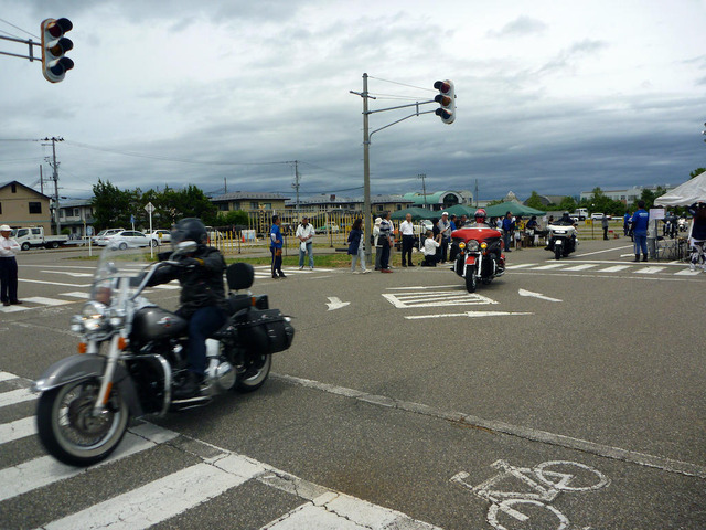
[[[260,391],[147,418],[173,437],[62,480],[40,468],[54,478],[26,491],[44,453],[0,431],[0,528],[63,528],[110,499],[129,508],[118,496],[214,452],[271,473],[154,528],[705,528],[706,274],[634,264],[629,245],[586,242],[560,262],[515,251],[474,295],[443,267],[261,271],[253,290],[297,335]],[[0,315],[0,373],[19,377],[0,381],[3,425],[33,403],[2,396],[75,351],[68,319],[94,262],[73,254],[20,256],[20,296],[35,301]],[[174,308],[178,293],[150,296]],[[319,509],[327,495],[353,508]]]

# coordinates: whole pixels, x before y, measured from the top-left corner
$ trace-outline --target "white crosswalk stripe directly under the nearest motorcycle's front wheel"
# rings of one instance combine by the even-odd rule
[[[156,425],[138,425],[126,433],[122,442],[120,442],[120,445],[109,458],[96,464],[93,468],[149,449],[157,444],[176,436],[176,433],[156,427]],[[57,483],[65,478],[75,477],[85,471],[86,468],[67,466],[49,455],[0,469],[0,501],[11,499],[18,495],[26,494],[28,491]]]

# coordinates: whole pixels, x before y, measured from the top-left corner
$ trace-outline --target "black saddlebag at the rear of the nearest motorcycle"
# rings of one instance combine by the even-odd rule
[[[279,309],[252,308],[235,322],[240,344],[257,353],[275,353],[291,346],[295,328]]]

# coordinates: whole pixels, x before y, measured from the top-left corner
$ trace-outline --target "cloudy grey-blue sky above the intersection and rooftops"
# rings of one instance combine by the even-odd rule
[[[704,0],[0,0],[0,34],[38,40],[61,17],[76,64],[62,83],[0,55],[0,182],[39,189],[36,140],[55,136],[69,198],[98,179],[291,195],[293,160],[302,195],[362,195],[363,73],[372,110],[432,99],[437,80],[457,93],[454,124],[373,135],[373,193],[421,191],[425,173],[427,191],[478,180],[480,199],[525,199],[706,166]]]

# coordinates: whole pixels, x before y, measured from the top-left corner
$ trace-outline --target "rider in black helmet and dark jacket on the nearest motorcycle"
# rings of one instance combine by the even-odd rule
[[[178,279],[181,284],[181,306],[176,315],[189,321],[189,356],[186,378],[174,389],[178,400],[200,393],[206,370],[206,339],[227,320],[223,255],[217,248],[206,246],[206,227],[199,219],[182,219],[176,223],[172,231],[172,245],[184,241],[195,242],[195,251],[173,255],[171,258],[180,264],[163,266],[149,283],[152,286]]]

